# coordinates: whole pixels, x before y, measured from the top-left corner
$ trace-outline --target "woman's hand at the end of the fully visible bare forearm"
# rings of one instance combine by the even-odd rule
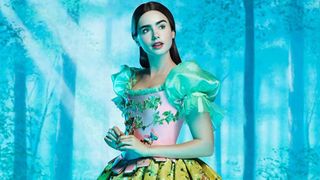
[[[146,157],[149,146],[140,142],[134,135],[123,135],[119,137],[119,150],[127,151],[128,153],[138,154],[141,157]]]

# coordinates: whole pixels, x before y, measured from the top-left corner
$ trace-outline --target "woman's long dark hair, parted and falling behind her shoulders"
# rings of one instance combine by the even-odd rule
[[[138,25],[138,21],[140,19],[140,17],[148,11],[151,10],[156,10],[161,12],[162,14],[164,14],[168,20],[169,20],[169,24],[171,26],[171,30],[176,32],[176,26],[174,23],[174,19],[173,16],[171,14],[171,12],[169,11],[168,8],[166,8],[164,5],[158,3],[158,2],[147,2],[144,4],[141,4],[139,7],[136,8],[136,10],[134,11],[133,15],[132,15],[132,21],[131,21],[131,35],[132,38],[135,39],[138,35],[137,32],[137,25]],[[144,68],[149,68],[150,64],[149,64],[149,60],[148,60],[148,56],[147,53],[142,49],[142,47],[139,48],[140,49],[140,65]],[[175,39],[172,39],[172,45],[170,48],[170,56],[173,60],[174,63],[179,64],[181,63],[181,59],[180,59],[180,55],[176,46],[176,42]]]

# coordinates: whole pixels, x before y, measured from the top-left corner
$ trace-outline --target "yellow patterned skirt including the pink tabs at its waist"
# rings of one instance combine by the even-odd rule
[[[117,164],[112,164],[118,160]],[[208,164],[199,158],[147,157],[135,161],[117,158],[110,161],[98,177],[105,179],[222,179]]]

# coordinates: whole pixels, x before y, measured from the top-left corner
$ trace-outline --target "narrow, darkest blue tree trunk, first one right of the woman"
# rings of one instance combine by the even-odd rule
[[[254,111],[254,13],[253,1],[244,0],[245,7],[245,69],[244,69],[244,124],[245,162],[244,179],[254,179],[255,172],[255,111]]]

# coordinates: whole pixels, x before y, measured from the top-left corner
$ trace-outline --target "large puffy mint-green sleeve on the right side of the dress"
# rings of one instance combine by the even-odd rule
[[[214,128],[220,126],[224,112],[213,103],[220,82],[211,73],[202,70],[195,62],[183,62],[168,74],[165,93],[179,115],[209,112]]]

